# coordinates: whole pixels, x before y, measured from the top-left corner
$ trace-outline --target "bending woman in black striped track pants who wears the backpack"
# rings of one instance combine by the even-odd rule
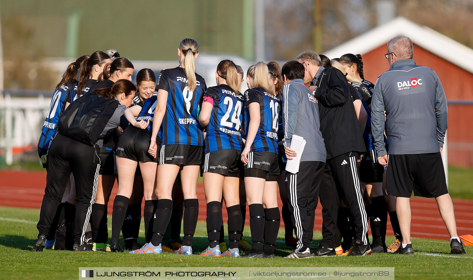
[[[136,86],[127,80],[118,81],[112,88],[96,91],[99,97],[105,97],[105,99],[115,98],[120,103],[106,123],[101,136],[105,136],[110,130],[114,130],[121,125],[120,119],[123,111],[133,102],[135,91]],[[83,113],[88,114],[89,112]],[[61,202],[60,197],[64,193],[71,173],[74,174],[77,181],[73,251],[85,251],[87,250],[84,244],[86,241],[85,231],[96,193],[98,165],[100,164],[100,161],[96,160],[96,146],[99,146],[103,140],[99,139],[93,146],[90,146],[61,133],[58,133],[54,139],[48,154],[49,165],[46,189],[41,204],[40,218],[36,226],[39,234],[32,251],[43,251],[46,245],[46,234],[52,226],[54,213]]]

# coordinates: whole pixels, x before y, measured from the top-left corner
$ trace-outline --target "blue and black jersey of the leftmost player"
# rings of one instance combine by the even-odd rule
[[[41,130],[41,136],[39,136],[38,147],[49,149],[49,142],[57,131],[59,117],[62,112],[64,112],[67,97],[74,88],[74,83],[75,81],[67,85],[62,85],[54,92],[51,105],[49,106],[46,119],[44,120],[43,129]]]

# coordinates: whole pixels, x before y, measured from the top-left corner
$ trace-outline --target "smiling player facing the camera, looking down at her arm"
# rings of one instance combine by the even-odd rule
[[[138,85],[137,96],[142,96],[145,102],[142,105],[134,105],[124,112],[131,126],[128,126],[123,131],[122,136],[120,136],[117,152],[115,153],[118,171],[118,193],[115,196],[112,216],[112,239],[110,242],[112,252],[123,252],[119,242],[120,230],[123,228],[125,213],[133,192],[134,179],[137,177],[135,176],[135,171],[138,163],[140,164],[142,176],[140,176],[140,179],[144,188],[145,207],[150,204],[152,209],[152,199],[156,199],[154,190],[156,186],[157,159],[148,153],[149,143],[151,142],[150,130],[153,125],[153,114],[157,100],[156,95],[152,95],[156,85],[156,76],[151,69],[141,69],[136,76],[136,83]],[[138,206],[141,215],[141,203]],[[147,212],[149,212],[149,209],[145,210],[145,213]],[[148,232],[150,220],[151,215],[146,215],[145,232]],[[126,232],[126,230],[123,231]],[[123,238],[126,237],[123,236]],[[133,240],[133,237],[131,237],[131,243],[133,242],[136,242],[136,240]],[[125,240],[127,247],[133,246],[132,244],[128,246],[129,244],[127,243],[127,240]]]

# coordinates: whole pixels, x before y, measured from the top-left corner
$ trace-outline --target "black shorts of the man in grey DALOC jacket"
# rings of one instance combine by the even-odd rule
[[[400,197],[448,194],[442,156],[438,153],[390,154],[386,194]]]

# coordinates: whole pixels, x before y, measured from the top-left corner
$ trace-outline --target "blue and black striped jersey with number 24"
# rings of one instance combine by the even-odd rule
[[[217,85],[209,87],[204,96],[214,101],[205,136],[205,153],[224,149],[241,151],[241,126],[245,113],[243,95],[235,93],[228,85]]]

